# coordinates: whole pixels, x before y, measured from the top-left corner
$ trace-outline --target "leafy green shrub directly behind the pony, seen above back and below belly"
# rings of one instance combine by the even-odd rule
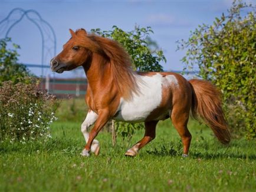
[[[110,31],[101,31],[100,29],[91,29],[91,32],[118,41],[129,53],[134,69],[137,71],[163,71],[161,61],[166,62],[163,51],[160,50],[155,41],[149,35],[153,33],[150,27],[135,27],[134,30],[125,32],[122,29],[113,26]],[[134,130],[142,128],[142,124],[129,124],[115,121],[117,134],[123,138],[132,138]]]

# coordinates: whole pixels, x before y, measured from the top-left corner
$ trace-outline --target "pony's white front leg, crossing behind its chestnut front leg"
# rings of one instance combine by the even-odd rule
[[[97,118],[98,118],[98,115],[96,114],[96,112],[89,110],[86,115],[86,120],[84,120],[84,122],[81,125],[81,131],[84,135],[84,139],[86,140],[86,143],[88,142],[88,139],[89,139],[89,133],[87,130],[91,125],[93,125],[95,123]],[[99,153],[100,153],[99,141],[93,140],[93,144],[91,145],[91,152],[95,153],[96,155],[99,155]],[[82,152],[81,155],[87,155],[87,154],[84,154]]]

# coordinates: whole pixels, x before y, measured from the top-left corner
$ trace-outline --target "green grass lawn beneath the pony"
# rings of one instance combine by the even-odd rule
[[[191,153],[181,158],[180,138],[169,121],[157,127],[156,139],[135,158],[131,141],[101,132],[98,157],[81,157],[80,123],[55,122],[52,140],[33,144],[0,144],[0,191],[255,191],[255,140],[232,140],[223,146],[211,130],[191,122]]]

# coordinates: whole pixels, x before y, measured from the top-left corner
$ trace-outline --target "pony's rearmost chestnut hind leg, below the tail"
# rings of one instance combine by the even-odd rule
[[[178,131],[182,143],[183,143],[183,155],[182,157],[188,157],[189,146],[191,143],[191,133],[188,130],[187,124],[189,119],[189,111],[188,110],[180,110],[180,108],[173,107],[172,110],[172,124]]]

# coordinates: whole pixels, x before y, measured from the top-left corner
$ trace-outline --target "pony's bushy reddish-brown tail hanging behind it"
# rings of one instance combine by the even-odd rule
[[[192,85],[192,116],[201,117],[222,144],[228,144],[230,133],[221,107],[221,93],[211,82],[190,80]]]

